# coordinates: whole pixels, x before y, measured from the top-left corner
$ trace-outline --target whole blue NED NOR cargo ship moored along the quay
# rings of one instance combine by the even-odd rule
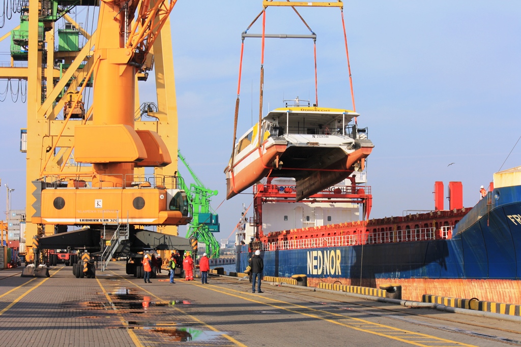
[[[359,176],[300,203],[289,182],[255,185],[252,232],[246,226],[237,236],[237,271],[260,249],[265,276],[304,274],[310,286],[392,282],[406,300],[435,294],[521,304],[521,166],[494,173],[472,208],[463,207],[462,184],[451,182],[449,210],[383,219],[366,219],[371,191]],[[435,184],[436,207],[443,189]]]

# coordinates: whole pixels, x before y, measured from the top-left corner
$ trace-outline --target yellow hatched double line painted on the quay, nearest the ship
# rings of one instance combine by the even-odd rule
[[[242,299],[242,300],[251,301],[251,302],[254,302],[254,303],[257,303],[257,304],[271,306],[271,307],[274,307],[275,309],[280,309],[280,310],[284,310],[284,311],[300,314],[300,315],[307,316],[307,317],[312,317],[312,318],[316,318],[316,319],[325,320],[326,322],[329,322],[329,323],[333,323],[333,324],[336,324],[336,325],[344,326],[344,327],[351,328],[351,329],[358,330],[358,331],[362,331],[362,332],[368,332],[368,333],[371,333],[373,335],[378,335],[378,336],[389,338],[389,339],[392,339],[392,340],[397,340],[397,341],[401,341],[401,342],[405,342],[405,343],[408,343],[408,344],[413,344],[413,345],[417,345],[417,346],[421,346],[421,347],[432,347],[432,345],[419,343],[419,341],[406,340],[406,339],[402,339],[402,338],[399,338],[399,337],[396,337],[396,336],[392,336],[392,335],[389,335],[389,334],[386,334],[386,333],[380,333],[380,332],[377,332],[377,331],[374,331],[374,330],[367,330],[367,329],[362,329],[362,328],[359,328],[359,327],[354,327],[354,326],[351,326],[349,324],[344,324],[344,323],[341,323],[341,322],[337,322],[336,320],[323,318],[323,317],[320,317],[318,315],[309,314],[309,313],[303,313],[303,312],[291,310],[291,309],[288,309],[287,307],[279,306],[279,305],[276,305],[276,304],[271,304],[271,303],[268,303],[268,302],[263,302],[263,301],[259,301],[259,300],[255,300],[255,299],[250,299],[250,298],[245,298],[244,297],[244,294],[249,294],[252,297],[256,297],[256,298],[263,298],[263,299],[266,298],[263,295],[257,295],[257,294],[253,294],[253,293],[250,294],[250,293],[244,293],[243,291],[238,291],[238,290],[234,290],[234,289],[227,289],[229,291],[240,293],[240,295],[236,295],[236,294],[227,293],[225,291],[218,290],[218,289],[215,289],[215,288],[211,288],[212,286],[203,286],[203,285],[198,285],[198,284],[190,283],[190,282],[188,282],[188,284],[190,284],[192,286],[197,286],[197,287],[201,287],[201,288],[204,288],[204,289],[208,289],[208,290],[213,290],[215,292],[222,293],[222,294],[225,294],[225,295],[230,295],[232,297],[239,298],[239,299]],[[364,319],[360,319],[360,318],[344,316],[344,315],[341,315],[341,314],[338,314],[338,313],[328,312],[328,311],[324,311],[324,310],[312,309],[311,307],[307,307],[307,306],[303,306],[303,305],[299,305],[299,304],[293,304],[293,303],[290,303],[290,302],[287,302],[287,301],[281,301],[281,300],[272,299],[272,298],[266,298],[266,299],[274,301],[274,302],[278,302],[278,303],[281,303],[281,304],[287,304],[287,305],[290,305],[290,306],[294,306],[294,307],[297,307],[299,309],[305,309],[305,310],[308,310],[308,311],[325,313],[325,314],[332,315],[332,316],[342,317],[344,319],[353,319],[353,320],[356,320],[357,323],[365,323],[365,324],[368,324],[368,325],[373,326],[373,327],[382,327],[382,328],[387,328],[389,330],[393,330],[394,332],[407,333],[407,334],[415,336],[415,338],[428,338],[428,339],[432,339],[432,340],[436,341],[436,342],[434,342],[434,341],[432,342],[432,343],[436,343],[436,346],[440,346],[439,343],[445,342],[445,343],[449,343],[449,344],[454,345],[454,346],[476,347],[476,346],[471,345],[471,344],[466,344],[466,343],[462,343],[462,342],[456,342],[456,341],[441,339],[441,338],[438,338],[436,336],[430,336],[430,335],[426,335],[426,334],[423,334],[423,333],[407,331],[407,330],[394,328],[394,327],[383,325],[383,324],[372,323],[372,322],[369,322],[368,320],[364,320]]]

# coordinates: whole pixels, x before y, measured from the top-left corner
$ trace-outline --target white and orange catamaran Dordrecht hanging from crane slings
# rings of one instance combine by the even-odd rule
[[[374,145],[367,128],[356,124],[358,113],[298,97],[284,101],[235,144],[225,169],[227,199],[269,176],[295,178],[300,201],[364,170]]]

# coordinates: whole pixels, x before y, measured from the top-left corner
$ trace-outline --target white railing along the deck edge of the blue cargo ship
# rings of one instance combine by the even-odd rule
[[[452,237],[453,226],[441,227],[439,236],[435,227],[416,228],[404,230],[389,230],[386,232],[373,232],[367,234],[354,234],[342,236],[317,237],[295,240],[275,241],[262,244],[262,250],[279,251],[288,249],[305,249],[321,247],[342,247],[373,245],[378,243],[394,243],[407,241],[426,241],[436,238],[450,239]]]

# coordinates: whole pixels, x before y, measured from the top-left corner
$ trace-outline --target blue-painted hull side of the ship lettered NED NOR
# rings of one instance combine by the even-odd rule
[[[414,279],[498,279],[516,281],[510,285],[517,288],[521,279],[521,186],[494,189],[455,226],[452,239],[262,253],[265,276],[305,274],[312,283],[337,281],[375,287],[389,280],[414,285]],[[248,246],[240,247],[238,272],[244,271],[250,256]]]

